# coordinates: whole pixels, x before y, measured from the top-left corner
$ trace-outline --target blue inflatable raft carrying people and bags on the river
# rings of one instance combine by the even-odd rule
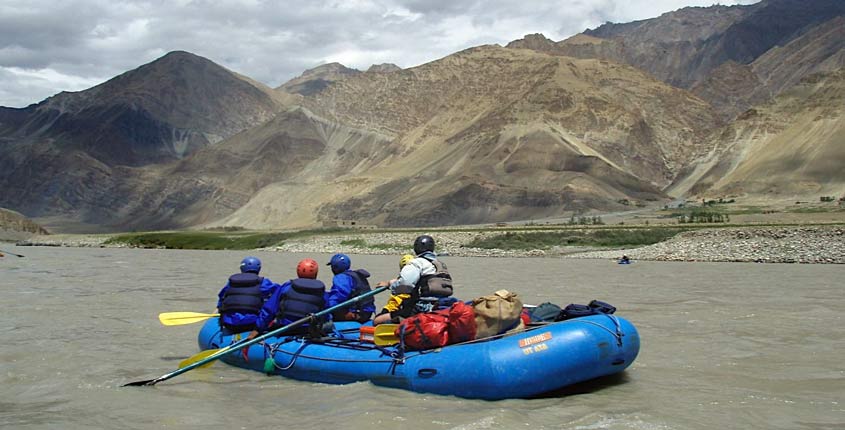
[[[356,323],[337,324],[322,339],[268,338],[224,362],[302,381],[373,384],[465,398],[534,397],[578,382],[619,373],[639,353],[636,328],[615,315],[592,315],[529,326],[525,331],[428,351],[403,351],[359,340]],[[217,318],[199,333],[202,350],[229,346],[244,333],[221,331]],[[268,360],[269,359],[269,360]]]

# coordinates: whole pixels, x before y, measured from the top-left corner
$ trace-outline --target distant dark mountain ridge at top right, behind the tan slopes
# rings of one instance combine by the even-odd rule
[[[692,89],[730,119],[805,76],[841,67],[843,15],[840,0],[763,0],[608,23],[560,42],[530,35],[508,46],[629,64]]]

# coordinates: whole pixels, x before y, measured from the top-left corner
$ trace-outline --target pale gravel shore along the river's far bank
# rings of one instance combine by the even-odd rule
[[[704,229],[681,233],[665,242],[632,249],[599,249],[584,247],[554,247],[549,250],[514,251],[482,249],[467,246],[476,238],[501,234],[501,231],[439,232],[434,234],[437,250],[452,256],[473,257],[560,257],[616,259],[622,254],[634,260],[654,261],[718,261],[768,263],[834,263],[845,264],[845,227],[736,227]],[[110,235],[49,235],[34,236],[19,245],[111,247],[106,245]],[[416,233],[350,231],[345,234],[320,235],[289,240],[267,251],[349,254],[399,255],[408,247]],[[363,239],[367,247],[343,242]],[[373,248],[377,245],[378,249]]]

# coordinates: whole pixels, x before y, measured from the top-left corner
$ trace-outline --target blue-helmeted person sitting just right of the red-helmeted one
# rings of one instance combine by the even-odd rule
[[[351,270],[352,261],[348,255],[335,254],[326,265],[331,266],[332,273],[334,273],[332,288],[326,295],[326,308],[338,305],[371,290],[370,282],[367,280],[370,277],[370,272],[364,269]],[[375,310],[375,300],[368,297],[358,303],[332,312],[332,320],[364,323],[370,320]]]

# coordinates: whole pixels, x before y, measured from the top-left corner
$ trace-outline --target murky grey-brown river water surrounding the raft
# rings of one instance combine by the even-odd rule
[[[533,304],[600,299],[640,332],[640,355],[619,377],[490,402],[291,381],[223,363],[121,387],[198,351],[200,324],[165,327],[157,315],[213,312],[245,254],[2,249],[26,256],[0,258],[2,428],[845,428],[841,265],[444,257],[461,298],[507,288]],[[257,256],[262,274],[281,283],[306,255]],[[398,269],[398,256],[352,261],[376,280]]]

